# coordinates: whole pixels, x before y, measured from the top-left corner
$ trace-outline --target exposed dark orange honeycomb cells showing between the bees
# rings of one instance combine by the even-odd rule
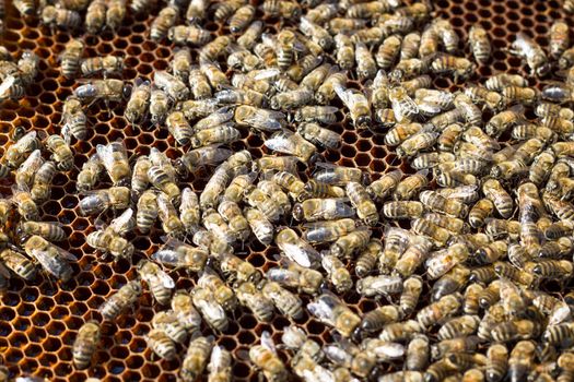
[[[257,4],[257,1],[251,2]],[[491,61],[479,67],[478,74],[469,80],[472,82],[500,72],[526,74],[520,59],[509,56],[503,49],[516,33],[526,32],[537,43],[546,46],[553,20],[565,20],[574,26],[572,17],[564,17],[559,1],[438,0],[434,4],[437,14],[448,19],[455,26],[461,41],[466,40],[468,29],[475,23],[480,23],[492,38],[494,50]],[[149,39],[148,31],[157,11],[155,9],[148,15],[128,15],[115,33],[106,31],[97,36],[85,35],[84,57],[121,55],[126,59],[125,80],[151,80],[154,70],[168,67],[173,53],[173,47],[166,43],[156,44]],[[257,16],[262,17],[261,12],[257,12]],[[277,31],[277,20],[266,22],[268,29]],[[204,26],[213,35],[229,33],[226,26],[215,23],[207,23]],[[5,32],[0,44],[13,53],[32,49],[43,61],[36,82],[30,87],[27,95],[19,102],[4,102],[0,107],[0,154],[3,154],[8,133],[14,127],[59,133],[62,102],[72,93],[74,85],[73,80],[60,75],[58,65],[58,56],[69,39],[68,32],[51,31],[40,25],[37,19],[24,22],[8,2]],[[468,55],[468,47],[460,48]],[[530,85],[539,85],[538,80],[529,79],[532,81]],[[459,86],[446,77],[436,77],[434,84],[438,88],[450,91]],[[360,88],[361,83],[350,81],[349,86]],[[77,212],[79,196],[75,194],[74,179],[78,168],[94,153],[97,144],[118,139],[124,139],[130,153],[148,154],[150,147],[154,146],[172,158],[180,155],[167,130],[144,130],[131,126],[117,106],[112,105],[110,109],[104,109],[104,106],[96,105],[89,108],[87,116],[92,124],[89,136],[73,145],[77,168],[68,174],[57,175],[51,199],[40,206],[43,220],[60,222],[69,234],[69,240],[61,247],[79,259],[72,265],[75,277],[67,284],[56,284],[42,276],[28,284],[22,279],[12,279],[0,305],[0,348],[4,350],[3,362],[12,375],[33,374],[50,381],[83,381],[87,377],[106,381],[175,381],[180,358],[173,361],[159,360],[145,345],[144,334],[150,330],[153,314],[160,310],[154,307],[149,293],[140,298],[133,313],[122,314],[114,323],[103,326],[102,341],[90,369],[79,371],[72,366],[71,346],[80,326],[95,318],[99,305],[136,276],[134,266],[130,263],[103,260],[85,243],[85,237],[95,228],[92,218],[82,217]],[[407,174],[414,172],[385,147],[383,135],[355,131],[341,111],[338,112],[338,120],[339,123],[331,126],[331,129],[342,134],[343,142],[340,150],[324,153],[328,162],[356,166],[368,172],[373,180],[396,168]],[[242,140],[233,144],[233,148],[246,147],[254,157],[260,157],[267,152],[259,136],[245,131],[242,133]],[[195,191],[201,191],[209,171],[200,170],[190,176],[189,184]],[[9,193],[9,184],[0,184],[0,191]],[[375,237],[380,235],[380,230],[375,230]],[[161,232],[156,230],[149,236],[132,234],[129,237],[139,251],[133,263],[138,258],[151,255],[159,248],[162,243],[160,236]],[[254,241],[246,243],[239,256],[266,271],[277,265],[277,253],[276,247],[266,248]],[[177,276],[177,288],[194,286],[192,278],[186,274],[174,276]],[[308,297],[302,298],[305,303],[308,302]],[[356,312],[371,310],[376,306],[373,299],[360,298],[355,293],[349,293],[344,300]],[[269,331],[276,342],[279,342],[282,327],[290,322],[285,318],[276,317],[271,323],[259,323],[253,314],[241,308],[236,310],[235,318],[236,320],[230,322],[229,331],[218,336],[218,343],[233,353],[233,373],[236,379],[255,380],[257,375],[245,356],[246,351],[259,343],[263,331]],[[309,318],[306,311],[296,323],[306,330],[312,339],[319,343],[332,341],[329,329]],[[179,354],[180,357],[183,351]]]

